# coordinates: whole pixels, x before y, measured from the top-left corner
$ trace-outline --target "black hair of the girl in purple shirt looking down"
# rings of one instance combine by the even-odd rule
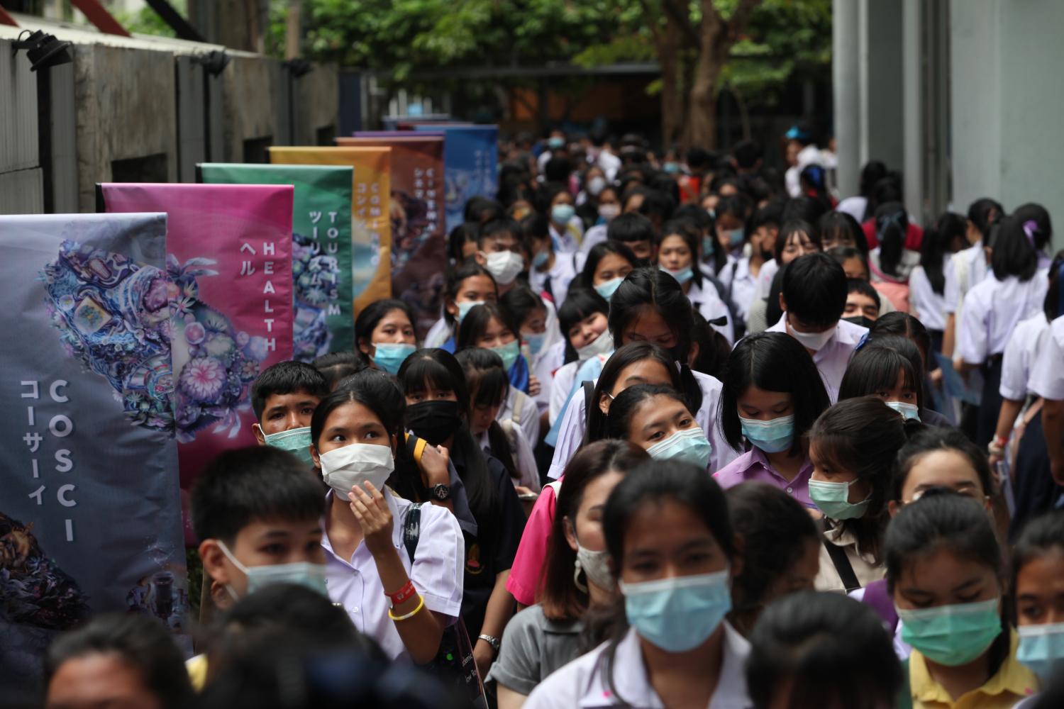
[[[791,455],[805,452],[805,435],[831,399],[824,387],[813,357],[786,333],[759,333],[735,344],[724,376],[717,420],[725,440],[736,451],[744,450],[738,400],[751,386],[765,391],[791,394],[795,416],[795,437]]]

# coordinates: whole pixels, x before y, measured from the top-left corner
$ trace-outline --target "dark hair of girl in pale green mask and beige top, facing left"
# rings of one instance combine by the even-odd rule
[[[903,421],[882,400],[858,396],[829,408],[810,431],[810,445],[815,445],[818,456],[830,460],[837,470],[853,473],[855,479],[868,482],[871,493],[864,516],[833,524],[853,535],[858,550],[877,562],[882,558],[894,459],[905,444],[907,431],[915,433],[919,427],[918,422]]]

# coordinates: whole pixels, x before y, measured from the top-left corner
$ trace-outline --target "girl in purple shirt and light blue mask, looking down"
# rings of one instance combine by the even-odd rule
[[[742,455],[714,473],[717,483],[767,483],[813,507],[808,434],[831,402],[809,352],[783,333],[750,335],[732,350],[721,382],[720,427]]]

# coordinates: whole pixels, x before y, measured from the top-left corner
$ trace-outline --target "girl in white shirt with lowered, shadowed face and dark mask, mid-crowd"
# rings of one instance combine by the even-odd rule
[[[625,278],[614,293],[610,305],[610,333],[616,347],[630,342],[658,344],[672,356],[680,371],[682,390],[688,401],[701,396],[701,405],[696,408],[695,418],[713,444],[712,470],[719,470],[735,458],[717,425],[717,409],[720,402],[719,379],[701,372],[692,371],[687,366],[691,355],[691,338],[695,328],[694,309],[683,294],[676,278],[656,268],[639,268]],[[565,466],[583,443],[586,425],[586,408],[581,384],[598,379],[601,368],[593,368],[595,359],[581,368],[569,396],[565,412],[560,416],[560,424],[552,428],[558,432],[553,441],[554,457],[548,475],[559,477]],[[548,439],[550,442],[550,439]]]

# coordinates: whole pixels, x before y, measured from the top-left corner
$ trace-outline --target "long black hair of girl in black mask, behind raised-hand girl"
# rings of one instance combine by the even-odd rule
[[[406,357],[399,368],[397,378],[403,394],[408,396],[423,392],[428,387],[454,392],[462,423],[454,432],[451,459],[461,463],[455,469],[469,496],[469,509],[473,519],[488,519],[496,505],[495,488],[484,454],[469,433],[469,413],[472,409],[462,365],[446,350],[422,349]],[[425,493],[426,496],[414,499],[428,500],[428,491]]]

